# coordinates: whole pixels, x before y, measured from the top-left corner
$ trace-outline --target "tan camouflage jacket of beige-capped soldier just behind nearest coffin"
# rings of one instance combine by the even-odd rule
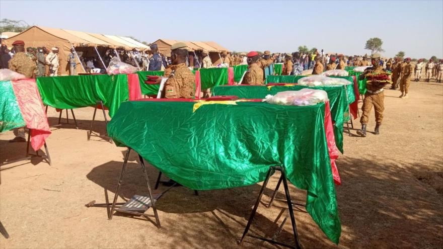
[[[165,83],[165,98],[167,99],[192,99],[194,96],[195,75],[185,63],[175,65]]]

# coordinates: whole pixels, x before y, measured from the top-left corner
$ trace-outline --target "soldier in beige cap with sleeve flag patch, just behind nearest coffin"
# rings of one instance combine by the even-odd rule
[[[174,65],[165,83],[167,99],[192,99],[194,96],[195,75],[186,66],[188,47],[183,42],[171,46],[171,60]]]

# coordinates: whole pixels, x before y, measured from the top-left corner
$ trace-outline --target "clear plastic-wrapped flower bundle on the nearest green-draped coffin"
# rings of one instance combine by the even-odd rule
[[[263,102],[283,106],[311,106],[328,101],[328,94],[323,90],[305,88],[300,91],[284,91],[276,95],[267,95]]]

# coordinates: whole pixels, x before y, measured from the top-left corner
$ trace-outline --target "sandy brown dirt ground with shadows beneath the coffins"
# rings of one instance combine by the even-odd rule
[[[411,82],[409,98],[399,95],[385,92],[381,135],[356,136],[355,120],[354,135],[344,136],[345,153],[337,161],[342,180],[336,187],[342,222],[339,245],[326,238],[303,208],[295,209],[305,248],[442,248],[443,85]],[[75,114],[80,129],[71,124],[52,128],[47,140],[52,167],[34,158],[1,168],[0,220],[11,236],[0,236],[1,248],[276,247],[250,237],[243,246],[237,244],[261,183],[201,191],[199,196],[184,187],[173,188],[157,203],[161,229],[143,218],[117,214],[108,220],[105,208],[85,207],[92,200],[103,203],[105,190],[112,200],[124,149],[98,137],[87,141],[93,109],[76,109]],[[56,124],[55,110],[48,115],[50,124]],[[94,130],[104,134],[103,116],[99,120]],[[368,130],[374,126],[373,112]],[[12,132],[0,136],[0,162],[24,155],[24,143],[8,143]],[[147,193],[135,153],[129,159],[121,191],[126,199]],[[158,171],[147,168],[154,185]],[[272,177],[264,203],[278,177]],[[293,200],[305,202],[305,191],[292,185],[290,191]],[[284,198],[282,190],[277,198]],[[272,236],[285,213],[281,201],[271,208],[261,205],[251,232]],[[292,241],[290,222],[277,239]]]

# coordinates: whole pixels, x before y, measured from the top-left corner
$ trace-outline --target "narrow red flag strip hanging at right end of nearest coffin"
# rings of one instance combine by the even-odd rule
[[[332,127],[331,109],[329,108],[329,101],[325,103],[325,133],[326,140],[328,142],[329,158],[331,160],[332,176],[334,178],[335,185],[340,185],[341,180],[338,175],[337,165],[335,165],[335,159],[338,158],[338,149],[335,145],[334,128]]]

